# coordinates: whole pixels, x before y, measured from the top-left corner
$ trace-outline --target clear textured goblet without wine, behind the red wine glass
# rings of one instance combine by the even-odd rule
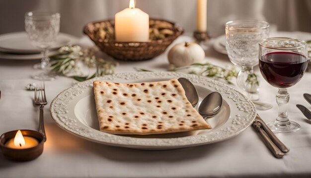
[[[258,42],[269,37],[269,23],[233,20],[226,23],[226,50],[230,61],[241,67],[236,84],[249,99],[258,100],[258,83],[253,67],[258,64]]]

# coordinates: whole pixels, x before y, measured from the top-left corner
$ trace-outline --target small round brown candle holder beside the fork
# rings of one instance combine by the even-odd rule
[[[25,149],[14,149],[5,146],[5,143],[15,137],[17,130],[5,132],[0,136],[0,149],[4,157],[12,161],[30,161],[38,158],[43,152],[44,136],[34,130],[20,130],[23,136],[33,137],[38,140],[37,146]]]

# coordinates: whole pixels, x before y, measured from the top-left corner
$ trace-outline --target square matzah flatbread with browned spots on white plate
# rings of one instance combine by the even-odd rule
[[[211,128],[187,100],[178,80],[94,81],[93,85],[101,131],[144,135]]]

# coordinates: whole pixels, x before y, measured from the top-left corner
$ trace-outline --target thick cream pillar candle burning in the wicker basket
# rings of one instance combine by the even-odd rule
[[[134,0],[130,0],[129,8],[116,13],[114,21],[116,41],[146,42],[149,40],[149,15],[135,8]]]

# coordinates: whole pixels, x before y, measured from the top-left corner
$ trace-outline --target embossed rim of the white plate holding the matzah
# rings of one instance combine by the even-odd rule
[[[187,78],[195,85],[220,92],[231,109],[227,122],[217,129],[199,135],[179,138],[134,138],[90,128],[78,121],[72,108],[73,103],[71,102],[78,99],[84,90],[92,88],[92,83],[95,80],[118,82],[119,80],[142,80],[145,78],[166,80],[180,77]],[[176,72],[119,73],[84,81],[57,95],[51,102],[50,111],[56,124],[70,133],[98,143],[137,149],[174,149],[219,142],[241,133],[251,125],[256,116],[254,104],[236,89],[206,77]]]

